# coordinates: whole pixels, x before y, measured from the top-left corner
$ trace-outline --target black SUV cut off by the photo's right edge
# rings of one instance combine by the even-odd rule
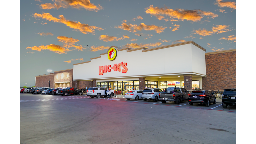
[[[228,105],[236,105],[236,89],[225,89],[221,100],[223,108],[227,108]]]

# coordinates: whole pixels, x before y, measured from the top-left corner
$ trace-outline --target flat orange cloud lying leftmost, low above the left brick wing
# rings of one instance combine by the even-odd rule
[[[50,44],[46,46],[41,45],[41,46],[27,47],[27,49],[36,50],[36,51],[49,50],[58,54],[63,54],[70,51],[69,49],[66,49],[60,45],[55,45],[55,44]]]

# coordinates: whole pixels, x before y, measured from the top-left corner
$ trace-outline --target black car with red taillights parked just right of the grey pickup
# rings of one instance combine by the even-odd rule
[[[208,90],[192,91],[191,94],[189,94],[188,101],[189,105],[201,103],[205,104],[205,106],[210,106],[211,102],[216,104],[216,96]]]

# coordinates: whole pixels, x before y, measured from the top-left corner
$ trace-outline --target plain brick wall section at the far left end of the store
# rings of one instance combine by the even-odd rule
[[[36,76],[36,87],[49,87],[50,75]],[[51,74],[50,87],[54,87],[54,74]]]

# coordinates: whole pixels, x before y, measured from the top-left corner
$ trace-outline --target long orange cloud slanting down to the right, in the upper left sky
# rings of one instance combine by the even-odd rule
[[[88,33],[95,33],[96,30],[104,30],[101,27],[96,27],[96,26],[89,26],[88,24],[82,24],[80,22],[74,22],[67,20],[63,15],[59,15],[59,18],[53,17],[50,13],[43,13],[43,14],[34,14],[35,18],[43,18],[48,21],[53,21],[53,22],[58,22],[58,23],[63,23],[66,26],[73,28],[74,30],[80,31],[83,34],[88,34]]]

